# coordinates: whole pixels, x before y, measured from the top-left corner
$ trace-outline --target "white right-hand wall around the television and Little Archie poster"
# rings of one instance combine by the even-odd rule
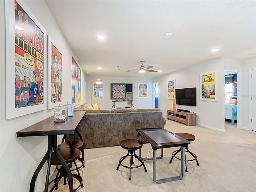
[[[212,70],[217,71],[216,96],[218,101],[200,101],[200,73]],[[221,83],[224,82],[224,59],[217,58],[154,78],[153,82],[159,82],[159,108],[163,111],[163,114],[166,114],[167,109],[172,109],[173,101],[167,99],[167,82],[174,79],[176,88],[196,87],[197,95],[196,107],[176,105],[176,108],[197,112],[198,125],[224,132],[224,84]]]

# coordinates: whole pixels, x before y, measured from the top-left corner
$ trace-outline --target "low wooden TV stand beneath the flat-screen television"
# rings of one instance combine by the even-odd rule
[[[177,110],[167,110],[167,119],[178,121],[186,126],[196,125],[196,113]]]

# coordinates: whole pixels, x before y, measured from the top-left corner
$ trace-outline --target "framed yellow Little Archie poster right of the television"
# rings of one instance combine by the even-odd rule
[[[217,72],[200,73],[200,100],[217,101]]]

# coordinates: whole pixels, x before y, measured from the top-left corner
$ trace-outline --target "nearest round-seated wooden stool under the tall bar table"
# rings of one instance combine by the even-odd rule
[[[65,148],[65,149],[60,149],[58,150],[61,154],[61,156],[64,158],[64,160],[66,161],[67,164],[70,164],[72,162],[74,162],[75,160],[77,160],[80,157],[80,150],[79,149],[73,149],[70,150],[70,148]],[[48,161],[49,163],[49,161]],[[52,182],[55,182],[54,185],[52,186],[52,188],[50,189],[50,192],[52,192],[54,189],[57,190],[58,189],[58,184],[60,182],[60,179],[63,177],[64,182],[63,184],[66,185],[66,180],[70,179],[67,177],[67,173],[66,170],[64,169],[64,167],[62,166],[61,162],[59,161],[59,159],[57,158],[56,154],[54,152],[52,152],[52,159],[50,162],[51,165],[56,165],[56,170],[58,171],[56,177],[49,182],[49,185]],[[60,168],[58,168],[58,166],[60,166]],[[75,178],[76,180],[78,180],[79,185],[74,189],[74,192],[76,190],[78,190],[78,188],[82,188],[84,187],[83,185],[83,179],[80,176],[79,170],[78,169],[74,169],[77,170],[78,174],[72,174],[72,177]],[[71,170],[73,171],[73,170]]]

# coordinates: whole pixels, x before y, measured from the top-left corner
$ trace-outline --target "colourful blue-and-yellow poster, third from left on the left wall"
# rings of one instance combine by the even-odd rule
[[[71,52],[71,103],[81,103],[81,69]]]

